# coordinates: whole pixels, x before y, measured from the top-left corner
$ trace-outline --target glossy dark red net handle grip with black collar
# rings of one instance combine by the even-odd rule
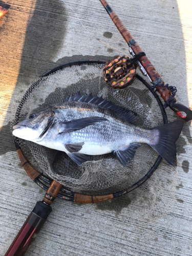
[[[23,256],[35,240],[36,235],[42,225],[44,225],[51,211],[52,208],[50,205],[38,201],[5,256]]]

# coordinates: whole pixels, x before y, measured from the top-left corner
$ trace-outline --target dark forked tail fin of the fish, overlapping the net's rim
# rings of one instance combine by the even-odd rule
[[[159,140],[156,144],[150,144],[151,147],[170,165],[177,165],[176,140],[183,129],[183,120],[177,120],[171,123],[160,125],[153,130],[158,131]]]

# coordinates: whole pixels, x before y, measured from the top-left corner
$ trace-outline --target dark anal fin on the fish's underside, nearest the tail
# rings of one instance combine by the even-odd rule
[[[129,161],[129,159],[133,159],[135,155],[136,148],[138,148],[141,144],[139,143],[132,143],[127,147],[125,150],[116,151],[114,152],[117,159],[122,163],[123,166]]]

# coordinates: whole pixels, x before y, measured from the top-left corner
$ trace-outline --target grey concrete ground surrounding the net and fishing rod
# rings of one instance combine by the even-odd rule
[[[0,1],[0,6],[3,5]],[[98,0],[6,0],[0,19],[0,255],[4,255],[45,191],[21,166],[10,120],[19,97],[40,75],[63,63],[110,59],[127,46]],[[192,3],[109,0],[163,80],[192,108]],[[168,120],[176,119],[167,110]],[[98,205],[59,199],[26,253],[32,255],[191,255],[191,123],[177,142],[178,167],[164,161],[131,194]]]

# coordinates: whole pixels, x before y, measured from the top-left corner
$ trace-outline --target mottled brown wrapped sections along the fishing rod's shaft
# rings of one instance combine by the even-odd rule
[[[130,32],[125,28],[124,24],[121,22],[120,18],[117,16],[117,14],[111,9],[108,2],[105,0],[100,0],[101,4],[105,8],[105,10],[110,15],[111,19],[113,20],[113,23],[119,30],[120,34],[124,38],[124,40],[128,43],[130,40],[133,39]],[[133,39],[134,40],[134,39]],[[134,42],[134,44],[131,45],[131,48],[135,54],[138,54],[139,52],[142,52],[141,48],[137,44],[137,42]],[[142,56],[139,59],[141,65],[147,72],[148,76],[151,78],[152,82],[154,82],[157,78],[161,78],[159,73],[155,70],[154,66],[152,65],[151,61],[146,57]],[[164,83],[164,82],[163,82]],[[161,95],[162,99],[166,102],[172,93],[167,89],[162,87],[157,88],[158,93]]]

